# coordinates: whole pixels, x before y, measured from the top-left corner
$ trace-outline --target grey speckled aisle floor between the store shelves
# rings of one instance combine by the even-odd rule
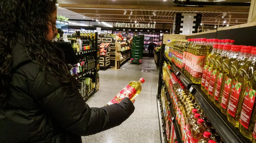
[[[143,77],[142,91],[136,97],[135,111],[120,126],[82,137],[83,143],[159,143],[160,131],[157,111],[157,84],[159,68],[153,58],[144,58],[142,64],[128,61],[122,70],[99,71],[100,89],[87,103],[90,107],[102,107],[121,91],[131,80]]]

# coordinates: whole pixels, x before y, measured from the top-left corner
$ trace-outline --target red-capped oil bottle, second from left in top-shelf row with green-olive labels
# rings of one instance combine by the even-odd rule
[[[213,65],[215,63],[216,58],[221,54],[222,49],[223,49],[223,45],[219,44],[218,45],[218,50],[216,51],[215,54],[213,54],[213,56],[211,58],[211,61],[209,63],[209,67],[208,67],[208,70],[207,70],[207,75],[205,77],[205,86],[204,86],[205,94],[207,96],[209,95],[208,90],[209,90],[209,85],[210,85],[210,79],[211,79],[211,76],[212,76],[212,73],[213,73]]]

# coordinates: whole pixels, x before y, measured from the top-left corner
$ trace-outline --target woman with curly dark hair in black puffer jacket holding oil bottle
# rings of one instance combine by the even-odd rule
[[[56,0],[1,0],[0,10],[1,143],[81,143],[133,113],[129,98],[103,108],[85,103],[50,42]]]

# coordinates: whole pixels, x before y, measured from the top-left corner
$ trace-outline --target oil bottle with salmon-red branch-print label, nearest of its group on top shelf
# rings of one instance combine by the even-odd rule
[[[201,42],[194,47],[193,55],[193,74],[191,81],[195,84],[201,84],[203,74],[203,64],[205,61],[205,55],[207,53],[207,45],[205,44],[206,38],[201,39]]]

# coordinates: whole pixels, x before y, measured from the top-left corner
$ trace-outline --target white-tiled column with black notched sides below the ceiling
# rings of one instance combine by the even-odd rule
[[[176,13],[173,17],[172,34],[191,34],[197,33],[200,26],[202,14],[196,13]]]

